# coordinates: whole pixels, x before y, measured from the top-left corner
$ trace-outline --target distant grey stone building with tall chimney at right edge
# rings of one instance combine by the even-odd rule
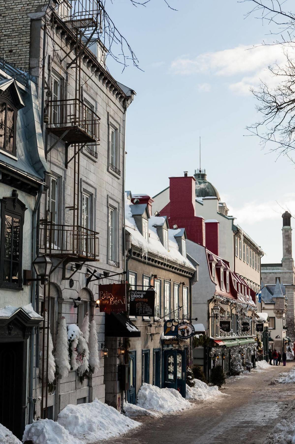
[[[276,285],[279,280],[285,288],[287,297],[286,325],[287,336],[295,340],[295,267],[292,258],[292,228],[291,214],[286,211],[283,218],[283,258],[276,264],[261,264],[261,280],[264,285]]]

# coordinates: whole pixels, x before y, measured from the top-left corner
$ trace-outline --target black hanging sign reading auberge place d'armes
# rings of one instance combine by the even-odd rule
[[[154,316],[155,290],[131,290],[129,292],[129,316]]]

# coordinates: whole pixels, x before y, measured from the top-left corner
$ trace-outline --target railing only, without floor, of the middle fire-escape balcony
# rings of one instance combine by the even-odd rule
[[[99,141],[98,115],[79,99],[50,100],[48,127],[66,128],[78,126],[93,140]]]

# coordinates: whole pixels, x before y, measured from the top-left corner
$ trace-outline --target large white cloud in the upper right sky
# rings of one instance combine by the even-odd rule
[[[295,48],[283,45],[254,45],[249,48],[240,45],[223,51],[206,52],[195,58],[181,56],[171,63],[171,71],[178,75],[235,76],[237,79],[229,83],[229,89],[245,95],[250,87],[260,83],[260,79],[275,86],[277,79],[272,76],[268,66],[286,64],[284,52],[295,55]]]

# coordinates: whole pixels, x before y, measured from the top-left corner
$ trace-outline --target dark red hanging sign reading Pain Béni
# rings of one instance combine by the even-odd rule
[[[99,308],[105,313],[126,311],[126,285],[99,285]]]

